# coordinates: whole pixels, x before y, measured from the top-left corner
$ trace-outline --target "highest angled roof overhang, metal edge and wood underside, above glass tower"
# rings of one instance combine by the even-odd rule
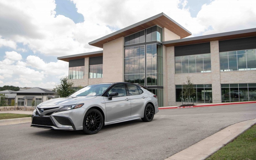
[[[134,25],[120,29],[119,31],[113,32],[111,34],[108,34],[107,36],[89,42],[89,45],[103,48],[104,43],[110,42],[120,37],[128,36],[130,34],[133,34],[135,32],[141,31],[154,25],[158,25],[162,28],[167,28],[175,34],[179,35],[180,38],[185,38],[191,35],[191,32],[182,27],[179,23],[175,22],[172,18],[168,17],[164,13],[160,13],[146,20],[135,23]]]

